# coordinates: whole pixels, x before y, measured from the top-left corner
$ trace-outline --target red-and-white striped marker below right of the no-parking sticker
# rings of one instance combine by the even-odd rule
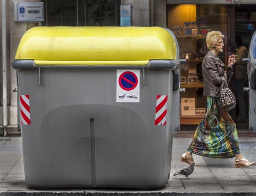
[[[166,125],[167,95],[156,96],[155,125]]]

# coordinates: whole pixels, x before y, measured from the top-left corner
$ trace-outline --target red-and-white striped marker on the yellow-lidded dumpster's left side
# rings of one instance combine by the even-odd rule
[[[21,124],[30,125],[29,95],[20,95]]]

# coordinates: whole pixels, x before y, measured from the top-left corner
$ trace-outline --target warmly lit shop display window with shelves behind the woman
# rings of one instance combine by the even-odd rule
[[[220,4],[168,4],[167,14],[167,27],[176,34],[181,58],[187,60],[181,65],[181,88],[186,89],[181,93],[181,125],[198,125],[206,114],[202,76],[202,61],[208,52],[206,34],[212,30],[224,34],[224,52],[218,56],[226,64],[227,8]]]

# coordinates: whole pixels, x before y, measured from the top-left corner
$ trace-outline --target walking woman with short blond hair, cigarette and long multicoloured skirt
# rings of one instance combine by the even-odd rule
[[[233,75],[232,66],[235,56],[231,55],[228,66],[224,71],[224,63],[219,59],[218,53],[223,52],[224,35],[220,31],[211,31],[206,36],[209,49],[203,58],[203,96],[207,96],[207,113],[199,123],[192,142],[182,155],[181,161],[192,164],[192,153],[212,158],[235,157],[236,167],[248,167],[255,162],[242,157],[238,144],[238,134],[227,110],[219,107],[220,84],[224,78],[228,83]],[[198,166],[198,164],[196,164]]]

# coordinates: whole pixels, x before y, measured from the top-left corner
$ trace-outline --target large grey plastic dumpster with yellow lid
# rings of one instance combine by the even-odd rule
[[[25,183],[165,185],[171,134],[179,130],[180,62],[174,34],[160,27],[28,30],[12,62],[18,78]],[[117,102],[120,70],[137,71],[139,101]],[[167,96],[166,125],[155,125],[159,95]]]

